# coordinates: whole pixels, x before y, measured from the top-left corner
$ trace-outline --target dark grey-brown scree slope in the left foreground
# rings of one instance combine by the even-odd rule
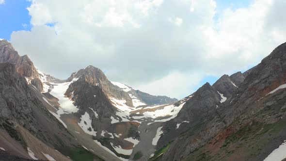
[[[1,147],[28,159],[31,156],[27,149],[32,149],[39,159],[46,159],[41,151],[52,155],[57,152],[50,147],[76,145],[64,126],[39,100],[40,93],[16,71],[16,64],[0,64],[0,91]],[[68,161],[63,155],[53,156]]]

